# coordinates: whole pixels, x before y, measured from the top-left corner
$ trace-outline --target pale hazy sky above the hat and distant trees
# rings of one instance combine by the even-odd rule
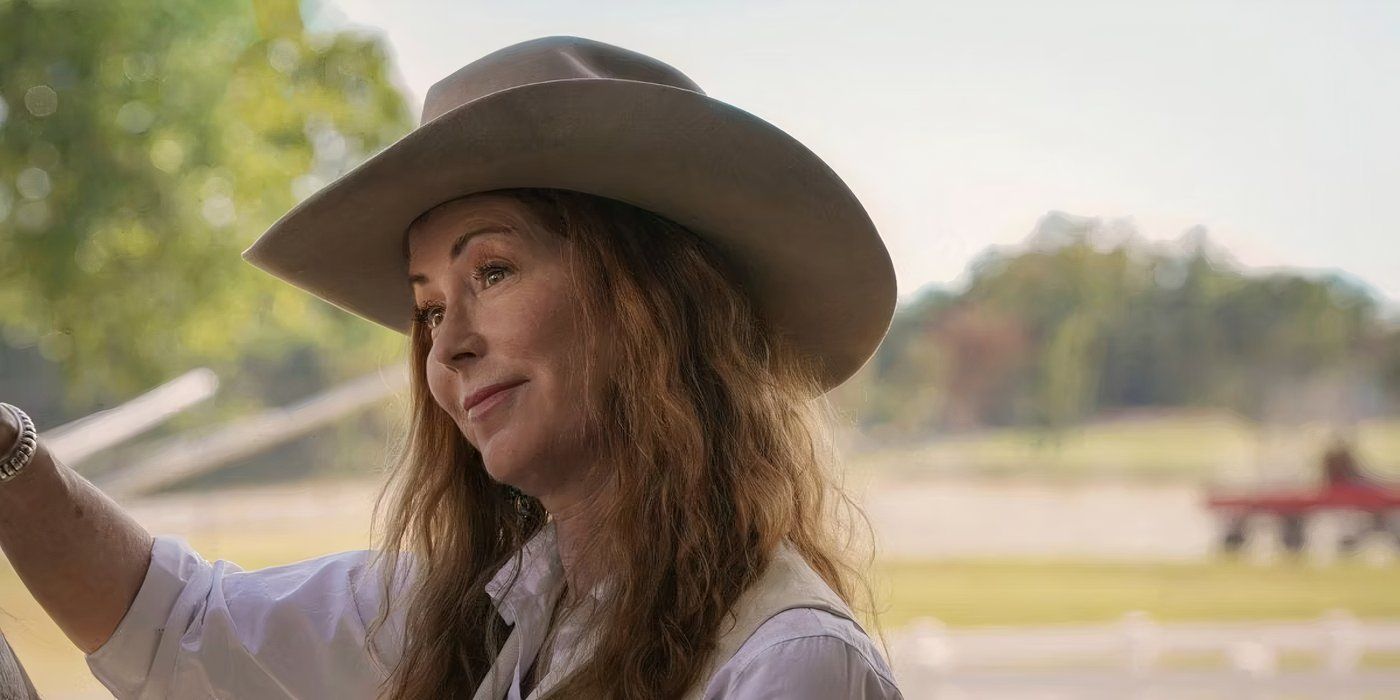
[[[381,35],[421,106],[511,43],[661,59],[820,155],[900,298],[958,287],[1049,211],[1204,227],[1250,269],[1343,270],[1400,304],[1400,3],[305,1]]]

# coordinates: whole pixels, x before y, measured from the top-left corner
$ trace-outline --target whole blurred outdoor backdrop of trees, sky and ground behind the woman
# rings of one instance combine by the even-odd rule
[[[0,0],[0,400],[209,560],[370,546],[403,339],[239,252],[550,34],[778,125],[885,235],[833,399],[907,697],[1400,697],[1393,3]],[[106,697],[8,564],[0,610]]]

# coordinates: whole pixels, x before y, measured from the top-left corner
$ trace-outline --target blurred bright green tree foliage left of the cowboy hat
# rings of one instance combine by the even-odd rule
[[[0,0],[6,343],[57,363],[73,405],[298,347],[328,374],[382,363],[396,333],[239,253],[407,130],[386,71],[293,0]]]

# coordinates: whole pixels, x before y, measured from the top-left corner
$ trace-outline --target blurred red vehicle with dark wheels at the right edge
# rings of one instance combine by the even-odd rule
[[[1369,532],[1383,532],[1400,547],[1400,483],[1375,480],[1354,480],[1329,483],[1312,489],[1280,489],[1247,494],[1210,493],[1205,505],[1226,518],[1225,536],[1221,540],[1226,552],[1245,545],[1253,518],[1268,518],[1280,524],[1281,540],[1289,552],[1298,552],[1306,545],[1306,524],[1310,515],[1324,511],[1350,511],[1366,515],[1366,524],[1355,532],[1341,536],[1337,546],[1341,552],[1355,549],[1361,538]]]

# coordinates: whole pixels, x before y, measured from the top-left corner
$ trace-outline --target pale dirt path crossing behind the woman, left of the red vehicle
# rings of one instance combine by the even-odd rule
[[[855,491],[883,554],[893,557],[1194,559],[1217,538],[1189,486],[944,479],[874,480]],[[151,532],[272,532],[319,522],[358,526],[368,538],[374,496],[368,482],[293,484],[165,496],[132,503],[130,511]]]

